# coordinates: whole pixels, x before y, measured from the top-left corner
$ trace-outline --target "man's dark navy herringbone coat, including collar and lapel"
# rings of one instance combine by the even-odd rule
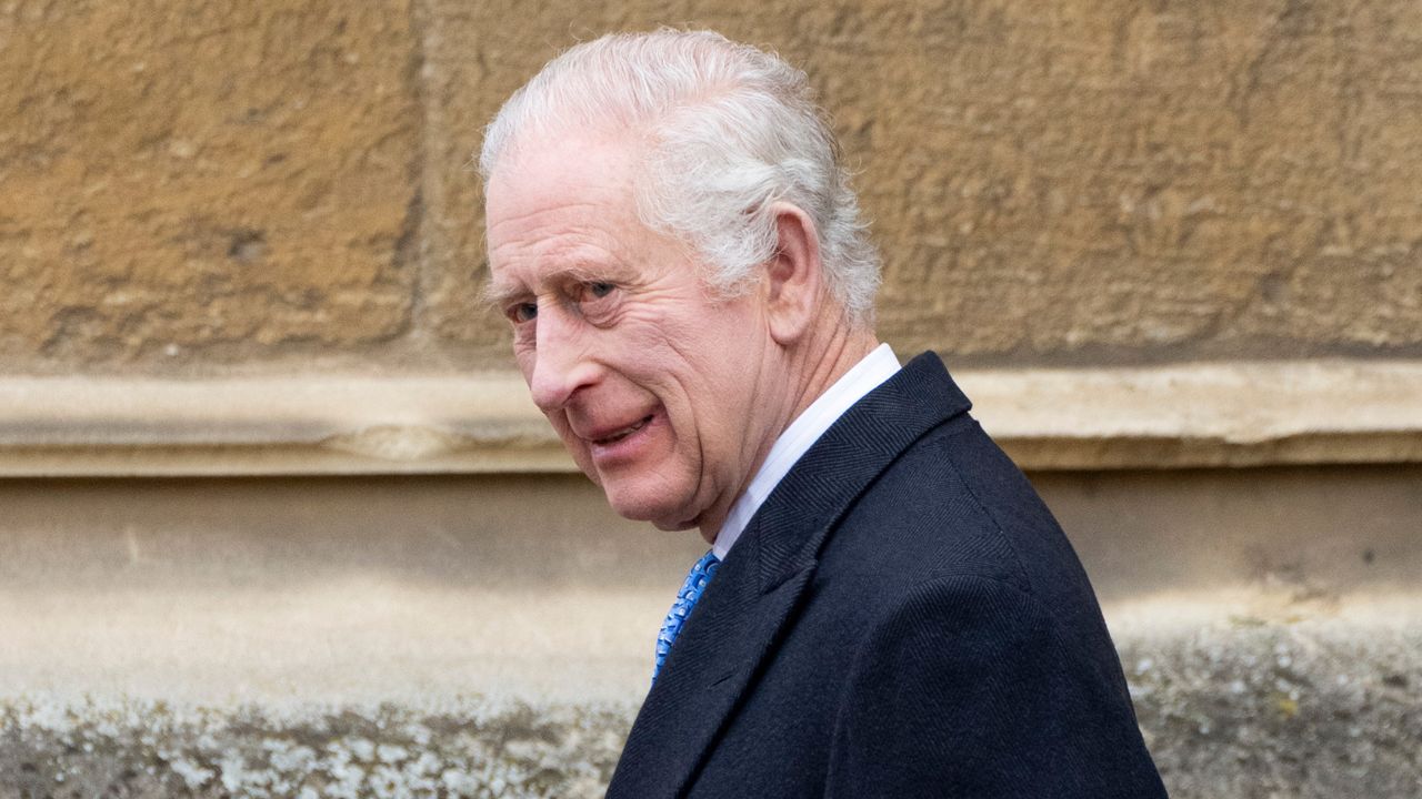
[[[1061,527],[933,354],[786,472],[609,799],[1165,799]]]

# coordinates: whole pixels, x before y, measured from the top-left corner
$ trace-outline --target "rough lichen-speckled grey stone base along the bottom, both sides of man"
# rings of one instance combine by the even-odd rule
[[[1413,799],[1422,630],[1236,616],[1116,631],[1175,799]],[[600,796],[631,705],[0,699],[0,796]]]

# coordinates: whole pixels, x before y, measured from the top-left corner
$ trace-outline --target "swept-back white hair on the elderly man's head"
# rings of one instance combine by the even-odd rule
[[[579,44],[513,92],[489,124],[479,154],[485,188],[516,141],[579,129],[644,146],[633,179],[637,215],[690,243],[715,289],[742,290],[775,254],[771,205],[788,202],[815,223],[833,297],[852,320],[872,320],[879,252],[805,73],[711,31],[663,28]]]

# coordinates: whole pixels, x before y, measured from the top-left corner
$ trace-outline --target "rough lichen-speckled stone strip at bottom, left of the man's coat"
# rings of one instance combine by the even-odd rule
[[[0,796],[602,796],[627,708],[209,708],[0,701]]]

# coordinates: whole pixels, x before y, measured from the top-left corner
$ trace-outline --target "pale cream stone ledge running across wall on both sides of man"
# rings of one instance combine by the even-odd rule
[[[1422,363],[963,370],[1027,469],[1422,462]],[[0,378],[0,476],[572,472],[516,374]]]

